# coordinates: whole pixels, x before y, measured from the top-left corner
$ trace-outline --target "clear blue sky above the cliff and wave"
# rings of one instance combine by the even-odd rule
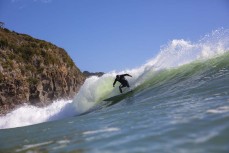
[[[0,21],[64,48],[81,71],[122,71],[174,39],[229,29],[229,1],[0,0]]]

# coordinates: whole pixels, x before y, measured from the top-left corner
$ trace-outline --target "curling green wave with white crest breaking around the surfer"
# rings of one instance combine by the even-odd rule
[[[102,99],[117,95],[119,93],[118,88],[113,89],[112,87],[114,77],[117,74],[131,74],[133,78],[128,79],[130,86],[140,91],[149,86],[155,86],[156,83],[162,84],[167,80],[172,80],[172,78],[179,81],[182,74],[189,75],[189,73],[197,73],[198,70],[204,71],[202,64],[206,60],[209,60],[209,64],[229,61],[227,54],[229,51],[228,34],[229,30],[219,29],[213,31],[211,35],[204,36],[197,43],[183,39],[173,40],[162,46],[160,53],[155,58],[139,68],[121,72],[113,71],[100,78],[91,77],[87,79],[73,100],[76,112],[80,114],[88,111]],[[227,54],[225,59],[216,58],[218,56],[224,57],[224,54]],[[189,65],[185,66],[188,63]],[[208,68],[209,64],[205,66]],[[228,63],[225,64],[228,65]],[[182,65],[183,67],[181,67]]]

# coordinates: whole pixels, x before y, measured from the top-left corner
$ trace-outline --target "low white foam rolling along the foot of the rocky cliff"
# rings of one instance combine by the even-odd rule
[[[70,102],[70,100],[58,100],[45,108],[23,105],[0,117],[0,129],[27,126],[71,116],[71,109],[66,107]]]

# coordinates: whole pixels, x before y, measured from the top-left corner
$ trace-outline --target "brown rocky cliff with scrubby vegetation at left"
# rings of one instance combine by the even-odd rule
[[[22,103],[71,98],[84,80],[64,49],[0,28],[0,114]]]

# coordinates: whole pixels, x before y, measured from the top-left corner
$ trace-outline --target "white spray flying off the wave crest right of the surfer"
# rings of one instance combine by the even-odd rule
[[[197,43],[172,40],[160,49],[160,53],[149,60],[145,67],[154,69],[181,66],[195,60],[209,59],[229,50],[229,29],[218,29],[205,35]]]

